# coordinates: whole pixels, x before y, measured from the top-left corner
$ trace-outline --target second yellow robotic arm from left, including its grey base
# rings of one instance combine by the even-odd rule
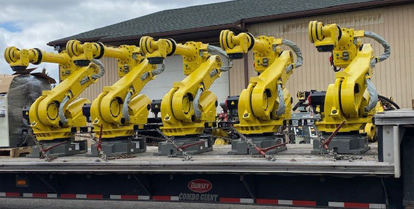
[[[71,40],[68,46],[68,54],[75,61],[90,60],[93,54],[118,61],[118,76],[121,79],[112,86],[105,86],[90,107],[91,123],[97,134],[102,125],[101,150],[109,156],[144,152],[145,141],[142,137],[136,137],[135,132],[147,123],[151,100],[139,92],[164,71],[164,63],[161,62],[160,68],[157,68],[142,56],[141,49],[135,45],[107,47],[100,42],[82,44]],[[96,144],[91,150],[93,156],[99,155]]]

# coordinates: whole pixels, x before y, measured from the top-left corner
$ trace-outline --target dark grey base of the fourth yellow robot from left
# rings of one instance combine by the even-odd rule
[[[284,142],[284,135],[274,135],[272,134],[254,134],[254,135],[246,135],[247,138],[252,139],[252,142],[259,148],[266,148],[269,146],[274,146],[277,144],[282,144]],[[268,150],[266,154],[273,155],[275,153],[282,152],[286,150],[286,145],[278,146],[271,150]],[[259,155],[257,150],[250,149],[247,146],[247,141],[243,139],[235,139],[231,141],[231,151],[229,151],[229,155],[246,155],[252,153],[253,155]]]

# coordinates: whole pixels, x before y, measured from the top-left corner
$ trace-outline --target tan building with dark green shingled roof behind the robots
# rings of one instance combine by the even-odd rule
[[[206,13],[205,11],[209,12]],[[335,22],[342,27],[365,29],[380,34],[392,47],[390,59],[376,65],[374,84],[378,93],[392,97],[401,107],[411,107],[414,97],[414,1],[408,0],[240,0],[212,3],[201,6],[165,10],[137,17],[118,24],[87,31],[75,36],[49,42],[52,46],[64,46],[70,39],[100,41],[107,45],[138,44],[141,36],[169,37],[178,42],[197,40],[217,45],[220,31],[230,29],[236,33],[248,31],[254,36],[266,35],[286,38],[296,42],[302,50],[304,62],[296,69],[287,84],[293,95],[296,91],[325,90],[335,81],[330,69],[328,53],[319,53],[309,42],[307,26],[310,20],[324,23]],[[148,25],[151,22],[151,25]],[[368,42],[365,39],[363,42]],[[373,43],[376,54],[383,48]],[[102,59],[107,74],[84,91],[93,100],[103,86],[112,85],[118,79],[116,60]],[[230,72],[217,79],[211,90],[222,101],[227,95],[238,95],[249,78],[255,76],[252,54],[234,62]],[[182,59],[167,59],[167,70],[149,82],[142,93],[151,99],[160,99],[172,87],[173,82],[183,79]]]

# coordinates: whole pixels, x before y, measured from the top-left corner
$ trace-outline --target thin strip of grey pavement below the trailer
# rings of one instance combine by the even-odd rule
[[[223,205],[206,203],[167,203],[144,201],[91,201],[61,199],[0,199],[1,209],[38,209],[38,208],[131,208],[131,209],[288,209],[288,207]],[[289,209],[295,209],[289,207]],[[298,209],[298,208],[296,208]]]

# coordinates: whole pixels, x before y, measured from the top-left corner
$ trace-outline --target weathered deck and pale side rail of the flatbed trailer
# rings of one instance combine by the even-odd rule
[[[19,157],[0,160],[0,172],[47,173],[307,173],[358,176],[394,175],[394,164],[378,162],[378,148],[370,150],[360,160],[334,161],[330,157],[312,155],[312,144],[288,144],[288,150],[277,153],[275,162],[250,155],[227,155],[230,145],[214,146],[212,152],[193,155],[193,161],[180,157],[154,156],[155,146],[146,153],[128,159],[105,162],[98,157],[75,155],[59,157],[52,162],[38,158]]]

